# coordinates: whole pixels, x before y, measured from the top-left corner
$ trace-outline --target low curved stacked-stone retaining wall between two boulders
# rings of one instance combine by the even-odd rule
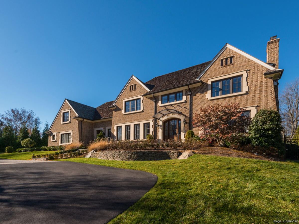
[[[177,159],[179,151],[102,151],[91,153],[91,158],[106,160],[164,160]]]

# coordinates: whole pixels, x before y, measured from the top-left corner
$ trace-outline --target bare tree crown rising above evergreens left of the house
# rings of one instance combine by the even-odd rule
[[[5,125],[11,125],[18,134],[23,127],[32,129],[35,125],[39,126],[42,123],[39,117],[35,117],[33,111],[26,111],[25,108],[10,109],[10,111],[0,114],[0,118]]]

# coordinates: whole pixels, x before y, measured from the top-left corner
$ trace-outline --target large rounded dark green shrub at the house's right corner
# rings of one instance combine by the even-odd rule
[[[283,153],[281,117],[273,109],[261,109],[252,119],[249,136],[252,145],[275,147]]]

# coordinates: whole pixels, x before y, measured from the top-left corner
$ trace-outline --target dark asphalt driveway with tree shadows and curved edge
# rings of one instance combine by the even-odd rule
[[[156,175],[75,162],[0,165],[0,223],[107,223]]]

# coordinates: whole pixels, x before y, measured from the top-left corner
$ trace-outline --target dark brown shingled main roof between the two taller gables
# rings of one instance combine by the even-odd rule
[[[188,67],[179,71],[157,76],[145,83],[150,89],[144,95],[192,84],[198,82],[196,79],[211,61]]]

